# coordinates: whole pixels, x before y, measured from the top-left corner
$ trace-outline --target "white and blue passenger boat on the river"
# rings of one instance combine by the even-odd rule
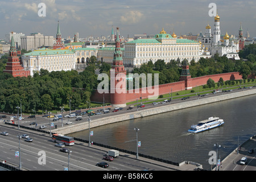
[[[221,126],[224,124],[223,119],[218,117],[210,117],[203,121],[200,121],[197,125],[192,125],[188,130],[189,133],[199,133],[201,131],[213,129],[214,127]]]

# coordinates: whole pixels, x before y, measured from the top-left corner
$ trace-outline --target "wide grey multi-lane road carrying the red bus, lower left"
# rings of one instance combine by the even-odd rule
[[[29,171],[63,171],[64,168],[68,167],[68,153],[61,152],[59,147],[55,147],[55,143],[51,141],[48,135],[30,133],[30,131],[18,130],[1,124],[0,132],[2,131],[7,131],[9,135],[0,135],[0,160],[6,160],[7,163],[19,166],[19,157],[15,157],[15,152],[19,150],[17,136],[28,134],[33,139],[32,142],[25,142],[23,138],[20,139],[20,159],[23,169]],[[97,167],[97,162],[105,162],[102,158],[106,151],[88,147],[88,144],[80,142],[74,146],[67,146],[67,148],[72,151],[69,155],[70,171],[170,170],[121,155],[112,162],[107,162],[108,168]]]

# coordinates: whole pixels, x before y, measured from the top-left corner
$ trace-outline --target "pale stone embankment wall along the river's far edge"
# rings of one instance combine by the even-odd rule
[[[141,118],[141,117],[147,117],[150,115],[160,114],[160,113],[166,113],[169,111],[179,110],[179,109],[185,109],[188,107],[194,107],[194,106],[200,106],[205,104],[211,104],[213,102],[220,102],[225,100],[230,100],[233,98],[238,97],[244,97],[249,96],[252,94],[256,94],[256,89],[250,89],[250,90],[244,90],[241,92],[235,92],[235,93],[229,93],[229,94],[223,94],[220,96],[214,96],[214,97],[204,97],[200,98],[199,100],[193,100],[193,101],[185,101],[177,104],[170,104],[170,105],[163,105],[156,107],[157,109],[140,109],[139,111],[132,111],[129,113],[123,113],[123,114],[117,114],[113,117],[113,115],[106,116],[104,118],[98,118],[94,119],[92,117],[92,121],[90,121],[90,128],[98,127],[102,125],[108,125],[115,122],[121,122],[126,121],[130,119],[135,118]],[[68,125],[64,127],[60,127],[58,129],[53,129],[53,133],[59,133],[59,134],[69,134],[69,133],[75,133],[77,131],[86,130],[89,128],[88,122],[81,122],[77,123],[75,125]]]

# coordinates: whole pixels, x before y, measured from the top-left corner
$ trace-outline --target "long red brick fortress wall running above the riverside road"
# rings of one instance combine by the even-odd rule
[[[200,86],[200,85],[205,85],[207,84],[207,80],[211,78],[214,82],[218,82],[218,80],[220,80],[220,78],[223,78],[224,81],[226,80],[240,80],[242,79],[242,75],[239,75],[238,72],[231,72],[231,73],[222,73],[222,74],[216,74],[216,75],[207,75],[207,76],[201,76],[201,77],[196,77],[196,78],[191,78],[190,80],[188,80],[188,82],[190,81],[190,84],[192,87],[196,87],[196,86]],[[148,88],[147,88],[148,89]],[[139,90],[127,90],[127,94],[126,94],[126,101],[123,101],[125,103],[127,102],[131,102],[131,101],[136,101],[138,98],[138,102],[140,102],[140,97],[143,98],[148,98],[150,96],[154,95],[154,92],[152,92],[152,89],[154,90],[154,86],[152,86],[152,89],[150,90],[145,90],[143,89],[139,89]],[[178,82],[172,82],[170,84],[163,84],[163,85],[159,85],[159,89],[158,89],[158,96],[163,95],[163,94],[168,94],[171,92],[177,92],[180,90],[185,90],[185,81],[178,81]],[[93,102],[103,102],[103,94],[100,94],[97,92],[97,90],[94,90],[95,92],[92,94],[92,97],[90,98],[91,101]],[[151,93],[149,93],[148,91],[151,91]],[[156,92],[155,92],[156,94]],[[119,100],[121,100],[122,98],[118,98]],[[111,102],[110,100],[110,94],[105,93],[104,94],[104,100],[105,102]],[[114,103],[112,103],[114,104]]]

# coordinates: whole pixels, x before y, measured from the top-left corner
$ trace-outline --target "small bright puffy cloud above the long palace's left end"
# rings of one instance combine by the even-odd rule
[[[143,14],[139,11],[128,11],[121,16],[120,21],[125,24],[134,24],[142,20]]]

